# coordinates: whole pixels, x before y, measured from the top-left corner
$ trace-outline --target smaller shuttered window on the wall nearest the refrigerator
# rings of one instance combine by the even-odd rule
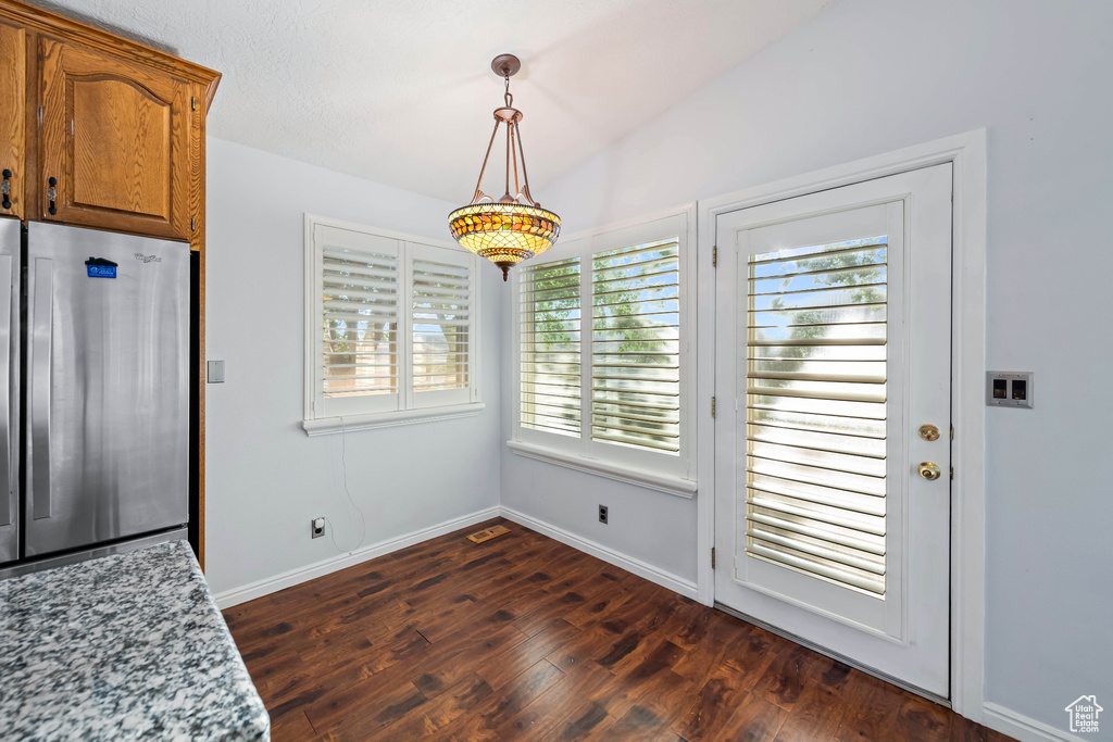
[[[475,414],[476,259],[306,216],[309,435]]]

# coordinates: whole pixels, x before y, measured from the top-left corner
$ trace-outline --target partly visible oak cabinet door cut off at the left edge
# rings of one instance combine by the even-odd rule
[[[0,22],[0,216],[23,217],[27,46],[21,28]]]

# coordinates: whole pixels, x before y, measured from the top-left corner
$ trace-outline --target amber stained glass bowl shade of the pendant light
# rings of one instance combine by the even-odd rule
[[[502,268],[541,255],[560,235],[560,217],[539,206],[472,204],[449,215],[449,229],[460,245]]]

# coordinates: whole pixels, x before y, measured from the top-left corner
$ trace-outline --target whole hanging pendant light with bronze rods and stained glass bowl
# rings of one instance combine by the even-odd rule
[[[518,127],[522,120],[522,111],[514,108],[514,97],[510,95],[510,78],[521,68],[522,62],[514,55],[499,55],[491,62],[495,75],[506,81],[506,92],[503,96],[505,105],[494,111],[494,131],[483,157],[472,202],[449,215],[452,237],[464,249],[502,268],[503,280],[506,280],[511,266],[541,255],[553,246],[560,234],[560,217],[541,208],[530,195],[525,151],[522,149],[522,133]],[[506,125],[506,180],[505,192],[495,200],[484,194],[481,186],[501,125]],[[522,164],[521,181],[518,179],[519,161]],[[510,190],[511,171],[514,174],[513,194]]]

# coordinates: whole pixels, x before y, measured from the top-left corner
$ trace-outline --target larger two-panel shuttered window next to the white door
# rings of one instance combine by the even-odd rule
[[[560,259],[519,269],[513,451],[693,492],[689,224],[564,240]]]

